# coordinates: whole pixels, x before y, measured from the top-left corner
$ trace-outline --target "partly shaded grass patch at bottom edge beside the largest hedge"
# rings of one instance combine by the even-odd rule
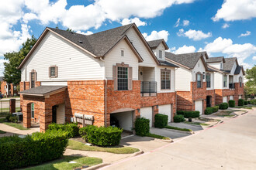
[[[76,163],[69,163],[76,162]],[[101,158],[92,158],[92,157],[78,157],[78,156],[64,156],[61,159],[57,159],[53,162],[48,162],[43,165],[33,166],[31,168],[25,168],[28,170],[56,170],[56,169],[65,169],[72,170],[74,168],[81,168],[84,165],[92,166],[102,163]]]

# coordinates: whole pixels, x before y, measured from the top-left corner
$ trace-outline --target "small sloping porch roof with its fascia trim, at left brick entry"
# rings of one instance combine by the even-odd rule
[[[20,91],[19,94],[33,97],[50,97],[50,95],[60,93],[64,90],[67,90],[67,86],[40,86]]]

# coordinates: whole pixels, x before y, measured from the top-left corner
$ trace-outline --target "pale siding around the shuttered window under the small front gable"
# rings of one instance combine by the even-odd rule
[[[120,56],[121,48],[125,53],[125,56],[122,57]],[[124,39],[119,42],[105,57],[106,79],[112,80],[112,66],[116,66],[116,63],[124,63],[133,67],[133,80],[138,80],[138,58]]]

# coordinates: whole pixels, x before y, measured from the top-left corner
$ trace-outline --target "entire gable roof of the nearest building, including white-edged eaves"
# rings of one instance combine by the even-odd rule
[[[128,45],[131,49],[133,49],[133,52],[136,54],[137,58],[139,59],[139,62],[142,62],[143,59],[140,56],[140,54],[137,52],[137,49],[133,46],[133,44],[130,42],[130,39],[126,36],[127,30],[130,28],[134,28],[140,36],[140,39],[144,42],[144,45],[147,47],[149,52],[151,53],[151,56],[154,57],[154,60],[157,64],[160,64],[154,56],[154,53],[150,49],[150,46],[148,46],[146,40],[141,35],[141,32],[139,29],[137,29],[137,26],[132,23],[126,26],[119,26],[114,29],[108,29],[106,31],[97,32],[92,35],[83,35],[78,34],[75,32],[68,32],[61,29],[54,29],[47,27],[43,33],[41,34],[40,38],[37,40],[36,44],[33,46],[33,48],[29,51],[28,55],[23,59],[22,63],[19,65],[19,69],[22,67],[24,63],[26,63],[26,60],[31,56],[34,49],[36,49],[36,46],[42,41],[43,37],[47,34],[47,32],[53,32],[55,35],[60,36],[61,38],[67,40],[68,42],[71,42],[74,46],[77,46],[78,48],[84,50],[86,53],[91,54],[94,57],[103,57],[109,51],[116,46],[116,44],[122,40],[125,39]]]

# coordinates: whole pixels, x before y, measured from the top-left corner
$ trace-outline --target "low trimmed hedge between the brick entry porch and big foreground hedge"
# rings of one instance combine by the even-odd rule
[[[47,131],[52,131],[52,130],[62,130],[62,131],[67,131],[68,137],[69,138],[74,138],[79,135],[79,128],[78,124],[74,123],[67,123],[67,124],[49,124]]]

